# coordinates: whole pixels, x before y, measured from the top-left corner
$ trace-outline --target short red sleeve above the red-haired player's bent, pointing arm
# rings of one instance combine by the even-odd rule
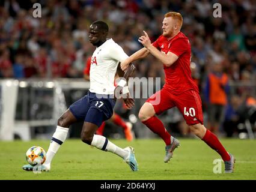
[[[189,48],[189,40],[186,38],[177,38],[176,40],[172,41],[169,52],[174,53],[177,56],[182,55],[184,52],[187,51]]]

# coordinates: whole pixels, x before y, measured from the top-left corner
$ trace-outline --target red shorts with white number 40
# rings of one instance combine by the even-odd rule
[[[178,107],[187,125],[203,124],[203,110],[197,91],[188,90],[180,95],[173,95],[163,88],[146,101],[151,103],[157,115],[172,107]]]

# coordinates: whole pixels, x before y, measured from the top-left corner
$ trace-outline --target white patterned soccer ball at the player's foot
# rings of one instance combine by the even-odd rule
[[[40,146],[32,146],[26,151],[26,161],[31,166],[43,164],[46,160],[46,152]]]

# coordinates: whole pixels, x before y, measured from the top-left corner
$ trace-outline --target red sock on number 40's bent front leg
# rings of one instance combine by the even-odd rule
[[[142,124],[145,124],[151,131],[158,134],[166,145],[171,145],[171,135],[163,126],[162,121],[159,120],[156,116],[149,118],[146,121],[143,121]]]

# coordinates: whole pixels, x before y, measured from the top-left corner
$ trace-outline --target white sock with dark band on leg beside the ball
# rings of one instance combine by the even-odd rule
[[[53,133],[52,140],[50,141],[49,149],[46,153],[46,161],[45,165],[50,165],[52,162],[52,158],[58,151],[61,144],[66,140],[67,133],[69,132],[69,128],[57,126],[55,132]]]

